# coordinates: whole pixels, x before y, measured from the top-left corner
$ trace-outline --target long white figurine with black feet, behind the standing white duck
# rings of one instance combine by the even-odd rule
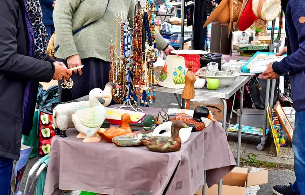
[[[112,100],[112,89],[116,86],[112,82],[108,82],[104,89],[104,94],[109,96],[110,98],[100,99],[100,102],[104,105],[104,107],[108,106]],[[73,100],[70,103],[59,104],[53,110],[53,123],[54,123],[54,131],[56,135],[60,135],[60,137],[67,137],[66,130],[69,128],[74,128],[74,124],[72,122],[72,114],[76,112],[79,108],[87,108],[90,107],[90,101],[88,97],[83,97],[77,100]]]

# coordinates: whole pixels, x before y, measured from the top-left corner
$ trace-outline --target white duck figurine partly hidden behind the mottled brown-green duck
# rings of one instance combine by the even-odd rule
[[[172,121],[168,121],[168,122],[162,123],[161,125],[158,125],[153,131],[153,136],[171,137],[172,136],[171,135],[172,124],[173,124]],[[188,139],[190,138],[192,129],[193,129],[193,127],[180,129],[179,137],[181,138],[182,143],[188,141]]]

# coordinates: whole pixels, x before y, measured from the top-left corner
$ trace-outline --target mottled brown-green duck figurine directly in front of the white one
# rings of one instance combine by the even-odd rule
[[[181,149],[181,138],[179,137],[179,131],[182,128],[188,128],[188,126],[179,120],[173,121],[171,126],[171,137],[154,136],[149,138],[143,138],[140,141],[150,150],[154,152],[174,152]]]

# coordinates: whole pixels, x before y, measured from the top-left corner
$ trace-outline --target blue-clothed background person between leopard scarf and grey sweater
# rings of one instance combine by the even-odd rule
[[[54,22],[53,22],[53,10],[56,4],[56,0],[39,0],[42,9],[42,22],[46,27],[49,35],[49,39],[55,32]]]

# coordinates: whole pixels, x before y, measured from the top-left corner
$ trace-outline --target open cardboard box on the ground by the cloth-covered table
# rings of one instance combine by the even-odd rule
[[[245,195],[247,187],[268,183],[268,170],[248,173],[247,168],[235,167],[223,178],[222,195]],[[206,186],[206,195],[217,195],[218,185]],[[202,195],[200,188],[194,195]]]

